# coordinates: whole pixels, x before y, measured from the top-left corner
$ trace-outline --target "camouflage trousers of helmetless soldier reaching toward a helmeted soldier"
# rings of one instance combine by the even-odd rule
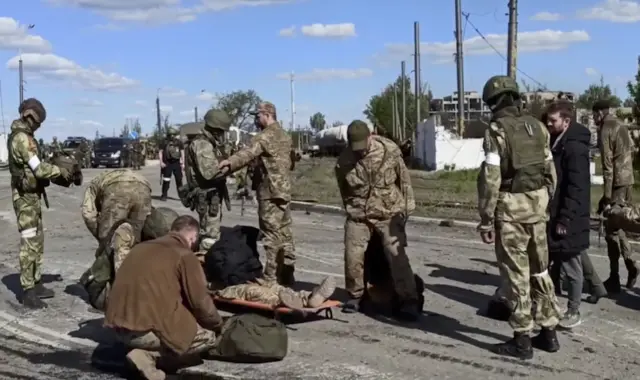
[[[259,200],[258,223],[264,234],[262,242],[266,253],[263,277],[267,281],[276,281],[282,265],[294,266],[296,262],[289,202],[282,199]]]

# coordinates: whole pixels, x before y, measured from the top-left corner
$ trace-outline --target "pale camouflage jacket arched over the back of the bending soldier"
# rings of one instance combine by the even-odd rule
[[[104,172],[94,178],[87,186],[82,200],[82,219],[84,223],[96,238],[98,238],[98,215],[102,212],[102,201],[106,195],[114,195],[114,193],[126,194],[131,189],[127,183],[141,183],[149,188],[151,192],[151,184],[147,179],[130,169],[116,169]],[[117,186],[111,186],[117,184]],[[136,191],[138,191],[136,189]]]

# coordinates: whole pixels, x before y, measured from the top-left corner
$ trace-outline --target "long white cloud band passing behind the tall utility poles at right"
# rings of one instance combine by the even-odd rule
[[[507,35],[486,34],[485,37],[498,51],[506,56]],[[534,53],[541,51],[557,51],[568,48],[570,45],[587,42],[591,39],[584,30],[563,32],[559,30],[539,30],[535,32],[518,33],[518,53]],[[472,37],[464,41],[464,54],[491,55],[496,54],[487,42],[481,37]],[[456,42],[422,42],[420,53],[435,63],[453,63],[453,55],[456,51]],[[376,58],[381,62],[399,62],[407,60],[413,54],[413,44],[387,44],[382,54]]]

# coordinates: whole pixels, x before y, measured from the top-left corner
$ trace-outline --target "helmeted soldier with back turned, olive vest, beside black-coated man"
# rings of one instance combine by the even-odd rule
[[[559,307],[547,271],[547,205],[557,181],[550,136],[539,120],[523,110],[518,84],[511,77],[489,79],[482,100],[493,117],[478,175],[478,231],[484,243],[495,240],[500,274],[508,284],[501,290],[515,305],[509,318],[514,337],[494,349],[530,359],[532,345],[548,352],[560,348],[555,331]],[[532,339],[534,319],[542,329]]]

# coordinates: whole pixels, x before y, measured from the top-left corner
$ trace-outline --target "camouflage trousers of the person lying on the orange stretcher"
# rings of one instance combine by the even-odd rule
[[[271,307],[281,305],[280,292],[288,292],[295,297],[300,298],[303,305],[307,305],[311,292],[296,292],[277,283],[269,283],[265,285],[258,284],[241,284],[233,285],[216,292],[219,297],[226,299],[240,299],[249,302],[260,302]]]

